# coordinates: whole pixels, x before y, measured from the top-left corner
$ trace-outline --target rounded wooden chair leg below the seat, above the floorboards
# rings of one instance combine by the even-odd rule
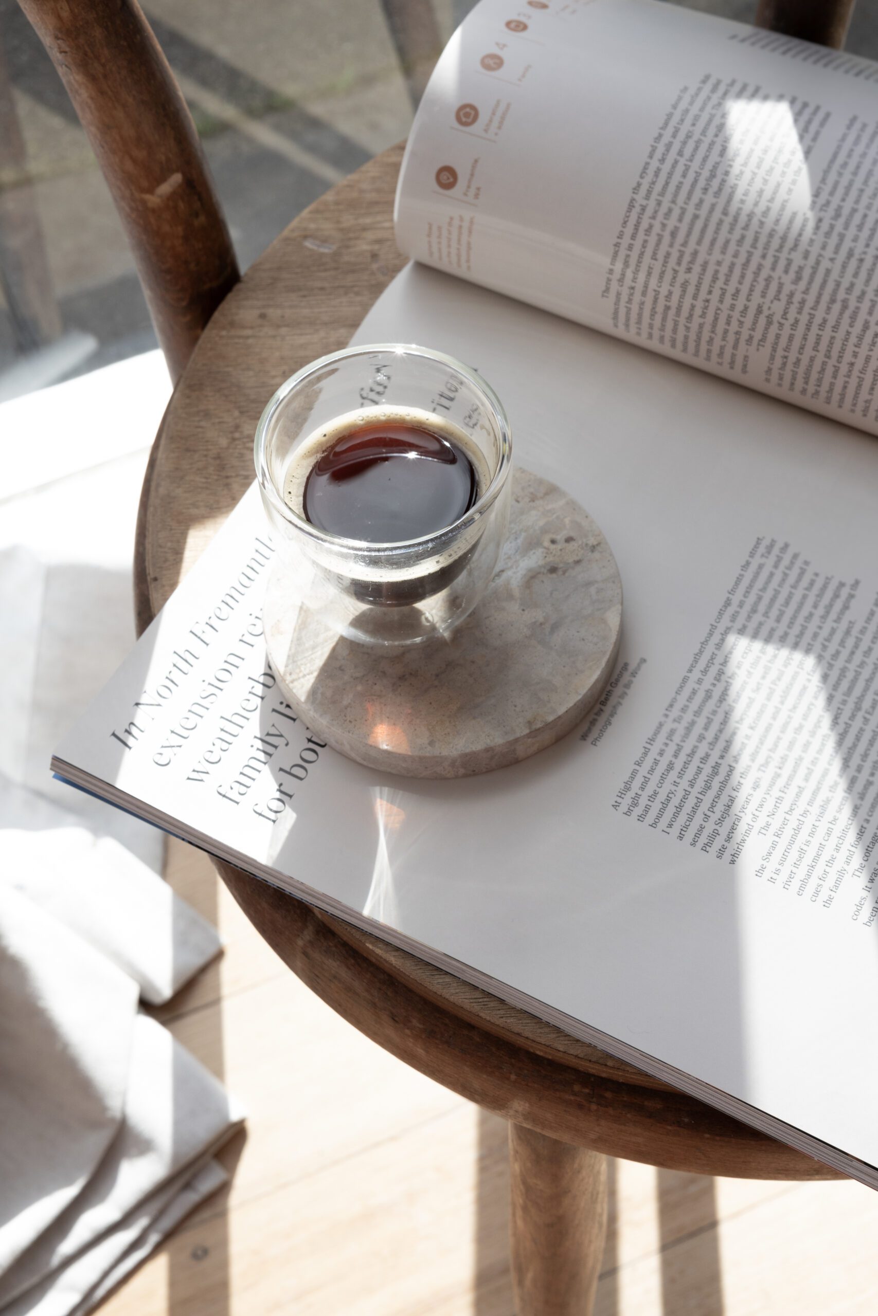
[[[607,1233],[607,1158],[509,1124],[517,1316],[590,1316]]]

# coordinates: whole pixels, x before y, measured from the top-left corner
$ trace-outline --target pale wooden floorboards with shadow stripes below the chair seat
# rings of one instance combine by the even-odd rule
[[[225,1157],[232,1186],[107,1316],[513,1316],[503,1121],[333,1015],[203,855],[175,844],[168,874],[226,953],[165,1013],[244,1099],[247,1136]],[[877,1232],[860,1184],[616,1162],[595,1316],[866,1316]]]

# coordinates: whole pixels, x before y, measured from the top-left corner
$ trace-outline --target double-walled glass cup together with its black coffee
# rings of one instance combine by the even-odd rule
[[[362,644],[420,644],[482,597],[507,533],[512,441],[474,370],[400,343],[323,357],[270,400],[254,455],[278,545],[266,634],[305,609]]]

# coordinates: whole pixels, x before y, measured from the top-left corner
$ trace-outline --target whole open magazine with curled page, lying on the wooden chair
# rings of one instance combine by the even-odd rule
[[[595,516],[604,696],[483,776],[333,753],[266,661],[251,488],[53,766],[877,1187],[874,80],[649,0],[483,0],[403,166],[421,263],[357,341],[475,366]]]

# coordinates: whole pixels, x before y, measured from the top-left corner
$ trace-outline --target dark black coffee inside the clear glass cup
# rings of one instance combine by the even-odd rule
[[[444,530],[477,503],[473,462],[453,438],[405,421],[355,425],[326,446],[303,512],[329,534],[399,544]]]

